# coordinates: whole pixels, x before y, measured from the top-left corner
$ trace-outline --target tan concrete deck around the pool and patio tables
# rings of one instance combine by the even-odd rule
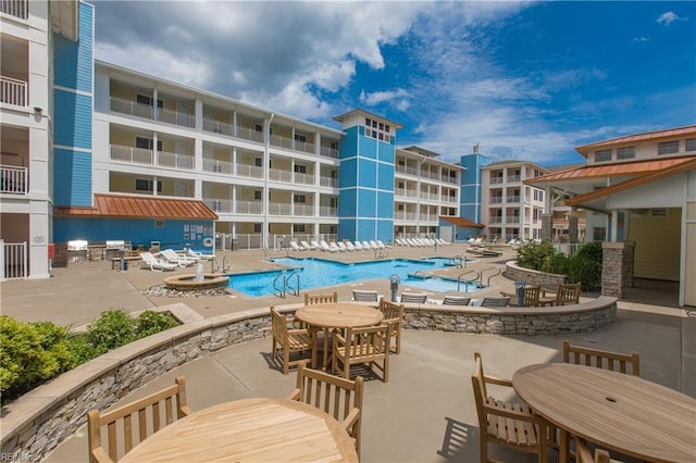
[[[465,255],[467,245],[433,248],[394,248],[389,258],[419,259],[423,256]],[[219,252],[232,263],[231,272],[273,268],[261,251]],[[285,256],[275,252],[273,256]],[[321,256],[355,262],[370,258],[370,253],[290,252],[297,256]],[[468,270],[505,266],[514,259],[514,251],[506,249],[500,258],[478,258]],[[372,253],[374,258],[374,253]],[[210,265],[210,264],[208,264]],[[210,267],[207,266],[206,271]],[[50,320],[62,325],[83,325],[110,308],[138,311],[152,306],[185,303],[202,316],[210,317],[252,308],[301,304],[299,297],[249,298],[244,295],[196,298],[146,298],[141,289],[160,285],[172,274],[194,273],[192,267],[175,272],[154,273],[132,268],[111,270],[111,262],[76,263],[55,268],[53,278],[17,280],[1,284],[2,314],[24,321]],[[456,276],[461,268],[442,270]],[[388,296],[384,281],[361,284],[363,289],[377,289]],[[668,285],[669,287],[669,285]],[[340,300],[349,300],[351,285],[327,288],[338,292]],[[573,343],[641,353],[642,376],[696,397],[696,318],[675,304],[673,290],[666,285],[650,287],[649,283],[626,291],[619,302],[618,321],[594,333],[568,336]],[[407,288],[401,287],[401,290]],[[512,281],[502,276],[490,280],[490,287],[476,295],[498,295],[512,289]],[[422,289],[412,288],[420,292]],[[399,291],[399,292],[400,292]],[[440,295],[434,295],[439,297]],[[583,295],[592,297],[593,295]],[[393,355],[389,383],[369,378],[365,385],[362,426],[362,461],[364,462],[442,462],[478,461],[478,429],[471,391],[473,351],[480,350],[486,370],[493,375],[511,377],[520,366],[560,360],[560,337],[524,337],[464,335],[440,331],[406,330],[402,353]],[[261,339],[224,349],[208,358],[169,372],[148,386],[125,398],[141,397],[172,384],[174,376],[187,377],[188,400],[194,410],[222,401],[248,397],[284,397],[291,391],[295,374],[284,376],[270,365],[270,339]],[[696,411],[694,411],[696,420]],[[551,452],[551,461],[555,455]],[[519,452],[496,449],[492,455],[505,461],[535,461]],[[87,461],[84,428],[61,445],[48,462]],[[627,460],[630,461],[630,460]]]

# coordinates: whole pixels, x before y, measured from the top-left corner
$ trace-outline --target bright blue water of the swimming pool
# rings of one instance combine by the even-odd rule
[[[457,291],[457,281],[437,277],[423,279],[409,276],[417,272],[427,273],[434,268],[450,265],[450,260],[445,258],[418,261],[391,259],[351,264],[312,258],[282,258],[273,259],[273,262],[290,268],[228,275],[229,284],[227,287],[252,297],[270,296],[275,292],[273,289],[273,280],[278,275],[284,273],[289,274],[294,270],[298,270],[300,275],[300,290],[323,286],[346,285],[368,279],[388,279],[391,275],[398,275],[401,279],[401,287],[423,288],[437,292]],[[291,284],[295,285],[295,281],[293,278]],[[464,291],[465,289],[464,284],[462,284],[460,290]],[[480,288],[475,285],[470,285],[468,288],[469,291],[475,291],[476,289]]]

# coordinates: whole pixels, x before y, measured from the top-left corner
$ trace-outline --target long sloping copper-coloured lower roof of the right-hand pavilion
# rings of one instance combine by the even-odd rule
[[[529,178],[525,184],[537,184],[544,182],[558,180],[581,180],[584,178],[598,177],[621,177],[625,175],[646,175],[651,172],[661,171],[663,168],[680,165],[688,161],[693,161],[694,157],[651,159],[646,161],[624,162],[620,164],[601,164],[586,165],[580,168],[571,168],[568,171],[555,172],[540,177]]]

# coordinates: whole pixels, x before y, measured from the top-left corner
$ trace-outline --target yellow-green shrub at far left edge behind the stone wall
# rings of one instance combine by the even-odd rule
[[[50,322],[0,316],[0,392],[3,402],[72,368],[69,331]]]

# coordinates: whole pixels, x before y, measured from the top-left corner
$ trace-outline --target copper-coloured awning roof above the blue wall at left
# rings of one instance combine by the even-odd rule
[[[57,217],[217,220],[202,201],[95,193],[94,208],[57,207]]]

